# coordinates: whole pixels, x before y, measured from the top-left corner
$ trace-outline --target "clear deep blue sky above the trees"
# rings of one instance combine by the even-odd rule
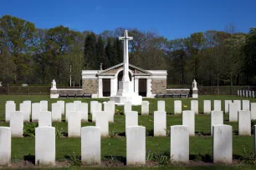
[[[64,25],[100,33],[115,28],[156,32],[167,39],[193,32],[237,32],[256,28],[256,0],[0,0],[0,16],[11,15],[36,28]]]

